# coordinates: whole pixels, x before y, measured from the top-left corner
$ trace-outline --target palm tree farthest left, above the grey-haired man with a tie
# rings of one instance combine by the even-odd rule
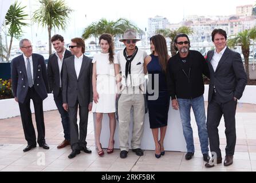
[[[27,14],[23,10],[25,6],[21,7],[21,2],[15,1],[13,5],[10,6],[9,10],[5,15],[5,23],[8,27],[8,34],[11,37],[9,49],[7,51],[6,58],[9,60],[11,53],[11,45],[13,44],[13,38],[19,39],[22,36],[22,26],[27,26],[28,24],[24,21],[26,20]]]

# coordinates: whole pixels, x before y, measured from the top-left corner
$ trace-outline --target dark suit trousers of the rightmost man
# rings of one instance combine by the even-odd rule
[[[226,134],[226,156],[232,156],[235,152],[235,143],[237,136],[235,132],[235,110],[237,109],[237,101],[231,100],[226,103],[218,101],[218,97],[213,94],[211,102],[208,103],[207,109],[207,130],[209,136],[210,150],[215,152],[217,157],[221,157],[219,149],[219,133],[218,126],[222,115],[225,121]]]

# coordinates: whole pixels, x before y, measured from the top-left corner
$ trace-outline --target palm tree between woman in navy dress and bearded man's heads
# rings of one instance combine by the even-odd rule
[[[186,26],[181,26],[179,27],[179,29],[176,30],[170,30],[170,29],[158,29],[156,30],[156,34],[162,34],[163,37],[168,37],[171,39],[171,45],[170,45],[170,51],[171,51],[171,55],[174,56],[176,55],[177,51],[174,48],[174,38],[176,37],[176,35],[180,34],[180,33],[184,33],[184,34],[192,34],[193,30],[190,27],[186,27]]]

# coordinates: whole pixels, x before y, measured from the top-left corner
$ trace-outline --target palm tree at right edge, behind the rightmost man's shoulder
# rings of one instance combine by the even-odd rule
[[[231,35],[231,38],[227,41],[229,47],[241,46],[243,57],[245,58],[245,71],[247,78],[250,79],[249,75],[249,55],[251,41],[256,38],[256,28],[244,30],[238,33],[236,36]]]

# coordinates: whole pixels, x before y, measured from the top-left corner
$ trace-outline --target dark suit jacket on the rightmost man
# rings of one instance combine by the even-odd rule
[[[208,102],[211,101],[214,86],[219,102],[225,103],[233,100],[234,97],[239,100],[242,97],[247,82],[247,75],[245,73],[245,68],[243,67],[241,55],[227,47],[222,58],[220,58],[215,72],[211,65],[213,55],[214,50],[208,51],[206,58],[211,78]]]

